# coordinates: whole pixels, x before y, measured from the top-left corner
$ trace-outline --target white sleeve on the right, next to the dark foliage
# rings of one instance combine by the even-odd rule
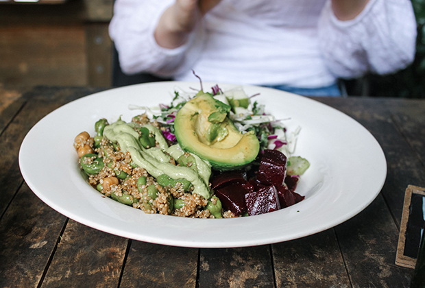
[[[337,77],[392,73],[415,57],[416,22],[409,0],[370,0],[350,21],[339,21],[328,0],[318,33],[322,56]]]

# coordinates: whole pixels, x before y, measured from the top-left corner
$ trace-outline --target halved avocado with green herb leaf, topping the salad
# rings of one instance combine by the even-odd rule
[[[242,134],[227,117],[230,106],[210,94],[198,93],[174,119],[175,137],[186,152],[207,160],[219,171],[241,169],[258,155],[254,132]]]

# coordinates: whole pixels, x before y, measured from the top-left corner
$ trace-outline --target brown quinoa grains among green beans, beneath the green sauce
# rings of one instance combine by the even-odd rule
[[[138,117],[132,119],[132,122],[136,124],[134,130],[138,133],[140,133],[140,130],[137,128],[148,123],[158,129],[162,129],[156,120],[149,121],[146,115],[138,115]],[[101,139],[99,147],[95,147],[93,137],[88,137],[88,139],[77,137],[73,143],[73,147],[76,150],[84,145],[89,145],[99,158],[102,158],[104,161],[104,167],[99,173],[88,175],[88,183],[106,197],[112,197],[117,200],[119,197],[127,196],[126,199],[132,201],[130,204],[132,207],[141,209],[149,214],[158,213],[178,217],[214,218],[210,211],[205,208],[208,200],[197,193],[192,193],[193,187],[189,191],[184,191],[184,186],[180,182],[177,182],[174,187],[162,187],[145,169],[132,163],[130,152],[122,152],[119,147],[114,145],[106,137]],[[95,156],[85,157],[84,164],[90,165],[95,158]],[[169,163],[178,165],[172,157],[170,158]],[[81,165],[80,168],[82,168]],[[123,174],[125,177],[121,177],[121,173],[125,173]],[[144,185],[137,184],[141,176],[146,178],[146,184]],[[116,181],[117,184],[107,185],[108,188],[106,188],[104,187],[106,181],[108,183]],[[151,185],[154,185],[157,191],[154,199],[148,195],[148,187]],[[173,203],[172,200],[177,199],[184,200],[184,206],[180,209],[174,209],[170,206]],[[213,201],[216,202],[217,200],[213,199]]]

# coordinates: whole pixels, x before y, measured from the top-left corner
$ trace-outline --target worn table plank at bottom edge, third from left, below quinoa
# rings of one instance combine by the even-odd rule
[[[132,241],[121,287],[182,287],[196,285],[198,249]]]

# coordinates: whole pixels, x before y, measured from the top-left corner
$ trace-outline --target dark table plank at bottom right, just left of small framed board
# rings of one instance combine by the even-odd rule
[[[335,231],[352,287],[409,287],[412,269],[395,264],[398,229],[382,195]]]

